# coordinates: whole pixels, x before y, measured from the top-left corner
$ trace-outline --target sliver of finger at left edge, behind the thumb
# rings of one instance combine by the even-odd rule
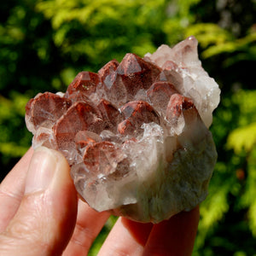
[[[0,233],[5,230],[20,207],[32,154],[33,150],[30,148],[0,184]]]

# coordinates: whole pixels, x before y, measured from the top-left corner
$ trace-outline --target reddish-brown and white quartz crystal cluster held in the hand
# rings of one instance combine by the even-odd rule
[[[158,223],[207,196],[217,158],[207,128],[219,94],[189,37],[81,72],[65,93],[39,93],[26,125],[34,148],[65,155],[90,207]]]

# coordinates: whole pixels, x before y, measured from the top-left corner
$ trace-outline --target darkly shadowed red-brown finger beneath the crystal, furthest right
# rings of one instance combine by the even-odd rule
[[[198,222],[199,207],[195,207],[191,212],[180,212],[169,220],[155,224],[143,255],[191,255]]]

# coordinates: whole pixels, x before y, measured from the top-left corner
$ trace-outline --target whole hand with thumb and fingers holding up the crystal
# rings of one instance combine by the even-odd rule
[[[29,149],[0,184],[0,255],[86,255],[108,212],[78,200],[57,151]],[[160,224],[119,218],[98,255],[190,255],[199,207]]]

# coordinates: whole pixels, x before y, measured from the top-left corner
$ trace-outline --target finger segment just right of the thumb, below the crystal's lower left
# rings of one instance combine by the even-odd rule
[[[102,230],[109,216],[109,212],[96,212],[84,201],[79,200],[77,223],[63,256],[87,255],[92,242]]]

